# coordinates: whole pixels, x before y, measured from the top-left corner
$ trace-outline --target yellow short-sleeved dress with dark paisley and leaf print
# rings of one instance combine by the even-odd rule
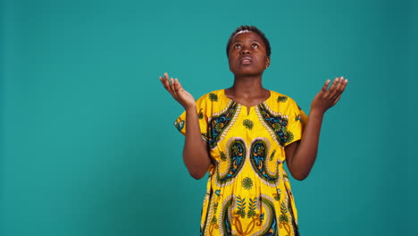
[[[284,147],[301,139],[304,112],[270,91],[263,103],[240,105],[216,90],[196,101],[209,168],[200,235],[298,235],[297,209]],[[186,114],[174,122],[185,134]]]

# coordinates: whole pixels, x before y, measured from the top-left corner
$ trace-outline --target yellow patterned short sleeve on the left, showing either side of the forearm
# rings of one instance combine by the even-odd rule
[[[199,121],[200,126],[200,133],[202,134],[202,139],[207,141],[207,123],[208,123],[208,116],[207,116],[207,101],[204,97],[200,97],[196,101],[196,113],[197,118]],[[183,135],[186,135],[186,111],[184,111],[180,116],[176,119],[174,122],[174,125],[176,126],[177,130],[180,131]]]

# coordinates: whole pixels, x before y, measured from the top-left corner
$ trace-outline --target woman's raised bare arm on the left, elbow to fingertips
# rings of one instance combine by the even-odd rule
[[[163,87],[186,110],[186,139],[183,149],[183,160],[188,168],[188,173],[195,178],[205,176],[211,164],[211,158],[205,141],[202,139],[199,120],[196,111],[195,98],[181,87],[178,79],[170,78],[167,73],[160,76]]]

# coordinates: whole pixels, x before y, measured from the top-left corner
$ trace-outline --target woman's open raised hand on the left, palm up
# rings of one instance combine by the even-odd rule
[[[195,98],[183,87],[180,81],[176,78],[169,78],[168,73],[164,73],[164,77],[160,76],[160,81],[163,87],[169,91],[171,96],[184,107],[185,110],[196,109]]]

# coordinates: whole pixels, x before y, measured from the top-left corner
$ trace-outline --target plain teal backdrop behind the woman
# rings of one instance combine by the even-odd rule
[[[291,181],[302,235],[407,235],[416,224],[416,1],[23,1],[0,5],[0,235],[197,235],[205,178],[182,163],[182,112],[230,87],[241,24],[272,44],[268,89],[309,111],[324,80],[313,172]]]

